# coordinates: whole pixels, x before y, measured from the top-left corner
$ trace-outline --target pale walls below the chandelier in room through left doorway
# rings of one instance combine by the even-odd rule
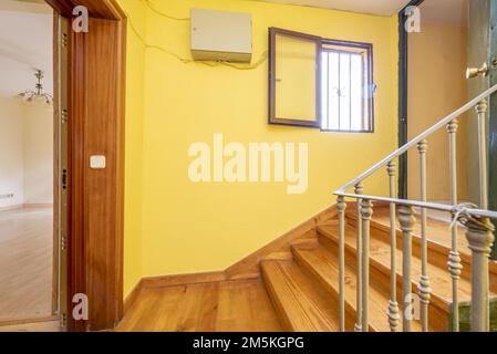
[[[0,208],[53,202],[53,111],[0,96]]]

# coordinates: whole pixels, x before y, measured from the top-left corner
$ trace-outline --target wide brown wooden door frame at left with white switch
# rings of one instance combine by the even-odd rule
[[[68,331],[114,327],[123,316],[124,100],[126,15],[116,0],[45,0],[71,19],[89,10],[87,33],[68,43]],[[104,169],[90,157],[104,155]],[[89,320],[72,316],[74,294]]]

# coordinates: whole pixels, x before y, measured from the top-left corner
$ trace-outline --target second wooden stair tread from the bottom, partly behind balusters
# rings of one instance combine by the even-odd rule
[[[322,283],[331,292],[339,293],[339,260],[333,257],[322,246],[314,247],[294,247],[294,253],[300,261],[304,262],[311,271],[321,279]],[[389,317],[386,309],[389,306],[389,298],[375,287],[370,287],[370,331],[390,332]],[[355,267],[345,264],[345,309],[349,314],[348,329],[353,329],[356,309],[356,274]],[[413,331],[421,331],[418,322],[412,323]]]

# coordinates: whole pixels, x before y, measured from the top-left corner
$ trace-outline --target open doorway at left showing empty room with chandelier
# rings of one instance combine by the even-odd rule
[[[0,3],[0,331],[59,330],[54,14]]]

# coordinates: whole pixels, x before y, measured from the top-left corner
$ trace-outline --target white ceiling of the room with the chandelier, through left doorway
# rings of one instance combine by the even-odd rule
[[[53,92],[53,19],[42,3],[0,0],[0,95],[34,88],[34,69],[45,72],[43,85]]]

